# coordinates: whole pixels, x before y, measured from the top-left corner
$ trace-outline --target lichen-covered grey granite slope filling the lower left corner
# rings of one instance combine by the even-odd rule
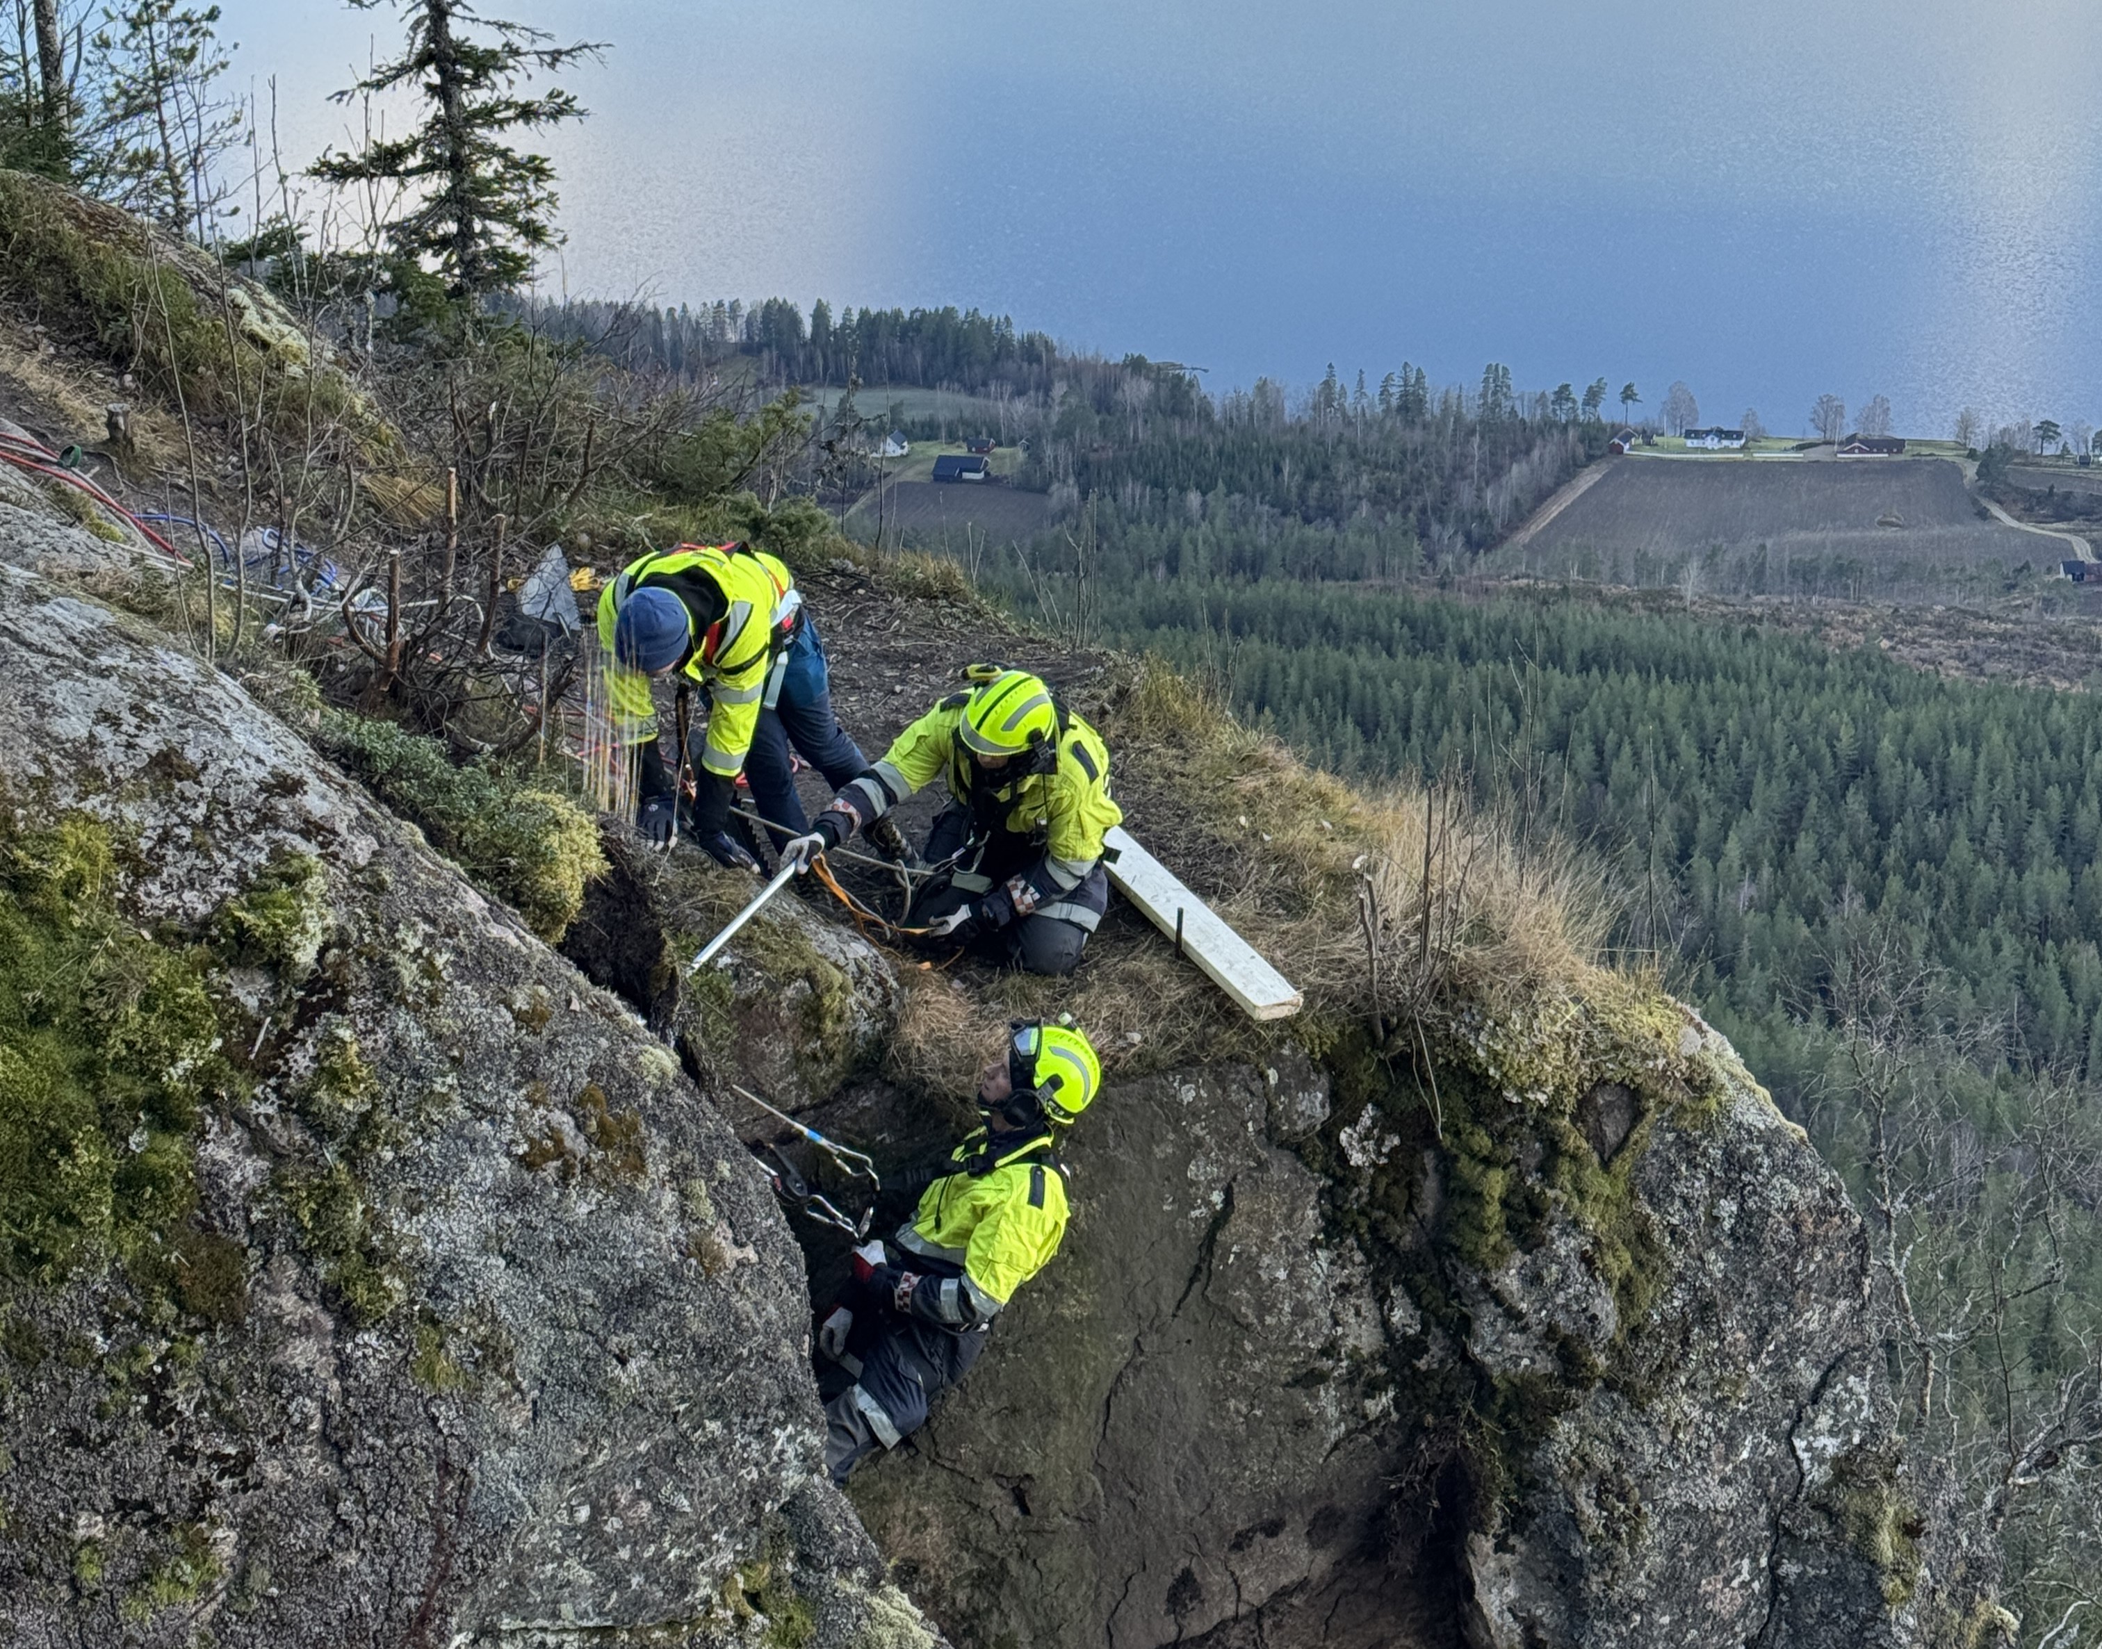
[[[191,1187],[122,1262],[0,1283],[11,1643],[935,1641],[822,1481],[765,1178],[626,1004],[4,565],[0,802],[8,855],[109,842],[111,933],[204,981],[225,1067],[187,1141],[76,1141]]]

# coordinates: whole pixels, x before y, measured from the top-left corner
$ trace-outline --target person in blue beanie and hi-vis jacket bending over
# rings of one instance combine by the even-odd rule
[[[746,771],[753,800],[778,840],[809,830],[795,794],[788,746],[841,786],[866,767],[832,714],[818,626],[788,567],[744,544],[679,544],[650,552],[599,597],[599,643],[612,655],[616,737],[635,765],[637,826],[671,842],[679,817],[679,765],[694,765],[694,805],[681,821],[717,863],[757,870],[729,832],[729,802]],[[666,771],[658,760],[650,679],[683,672],[708,691],[706,733],[689,735]],[[879,849],[904,851],[900,838]]]

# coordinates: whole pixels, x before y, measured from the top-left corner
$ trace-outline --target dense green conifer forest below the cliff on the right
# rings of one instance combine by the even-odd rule
[[[1047,546],[982,576],[1339,773],[1444,777],[1570,842],[1619,960],[1730,1036],[1852,1183],[1909,1426],[1988,1519],[2012,1496],[1995,1439],[2045,1462],[1995,1525],[2018,1590],[2047,1620],[2083,1596],[2102,1523],[2052,1464],[2102,1334],[2094,700],[1749,618],[1322,582],[1366,529],[1232,521],[1097,510],[1055,546],[1064,576]]]

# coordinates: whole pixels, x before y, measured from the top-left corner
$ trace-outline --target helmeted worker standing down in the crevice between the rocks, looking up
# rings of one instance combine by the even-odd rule
[[[818,1349],[853,1376],[824,1405],[824,1464],[845,1483],[853,1462],[927,1420],[956,1384],[1017,1288],[1066,1235],[1066,1166],[1057,1136],[1101,1086],[1087,1038],[1032,1021],[977,1086],[977,1128],[927,1187],[891,1241],[853,1250],[853,1283],[818,1330]]]

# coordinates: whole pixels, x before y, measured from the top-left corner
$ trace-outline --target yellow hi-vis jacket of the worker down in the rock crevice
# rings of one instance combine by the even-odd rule
[[[988,1147],[984,1128],[965,1139],[952,1172],[929,1185],[919,1212],[898,1227],[893,1241],[933,1269],[912,1290],[914,1317],[948,1328],[990,1323],[1066,1235],[1066,1172],[1051,1134],[1028,1134],[996,1155]]]

